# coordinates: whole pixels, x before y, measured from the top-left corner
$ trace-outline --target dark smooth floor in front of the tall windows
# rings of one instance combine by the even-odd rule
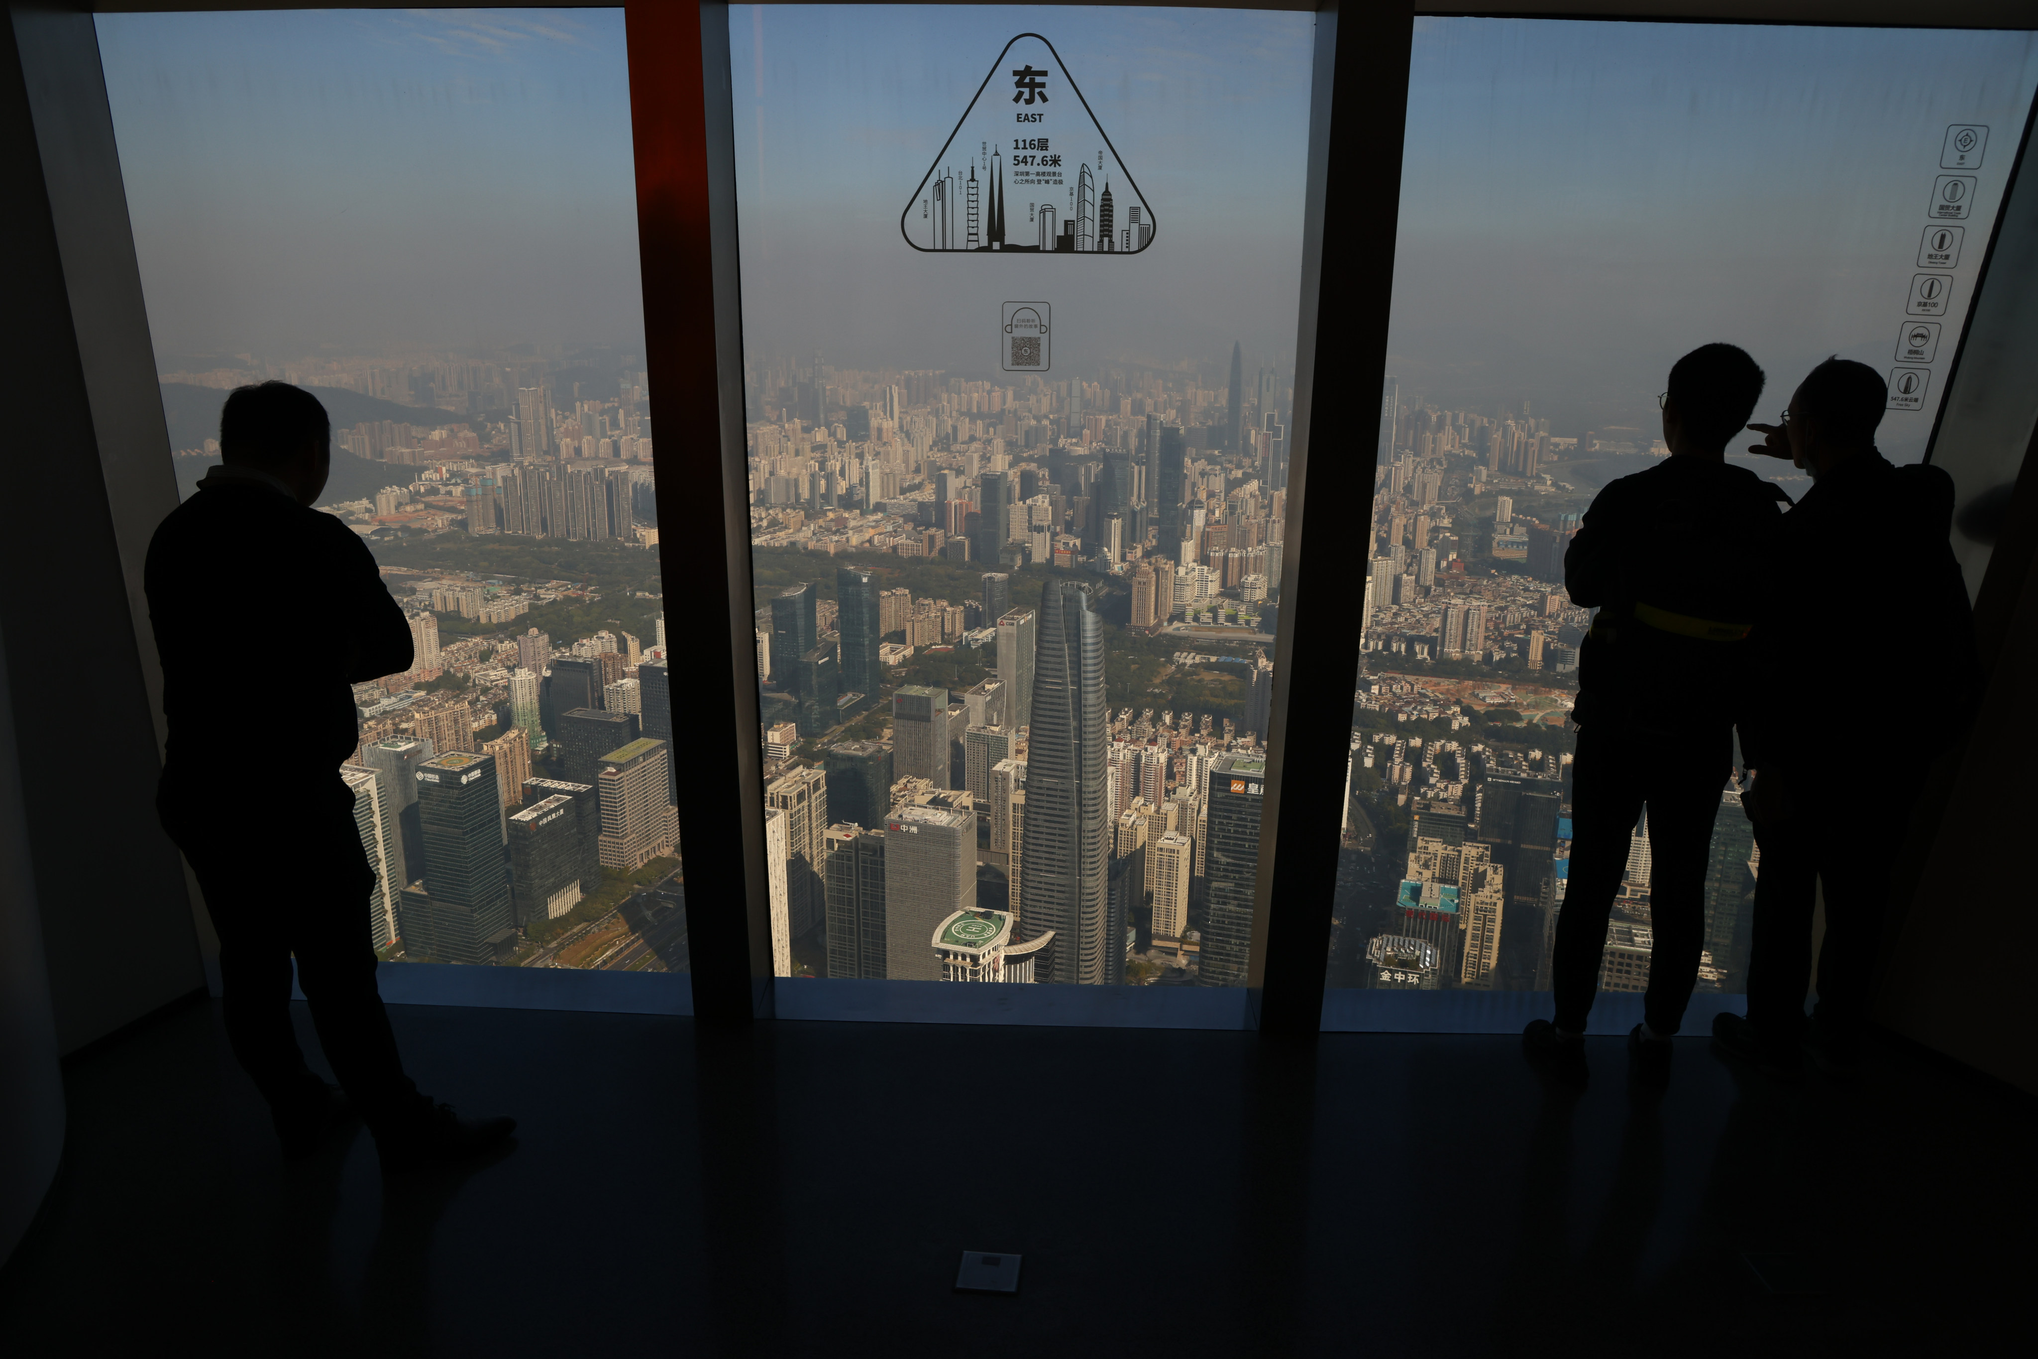
[[[1879,1049],[1736,1082],[1681,1039],[1547,1098],[1508,1037],[399,1007],[514,1155],[381,1192],[283,1165],[194,1007],[75,1066],[8,1355],[1979,1355],[2022,1351],[2020,1096]],[[308,1037],[310,1047],[310,1037]],[[1019,1296],[952,1292],[962,1249]],[[1808,1296],[1767,1292],[1742,1259]]]

